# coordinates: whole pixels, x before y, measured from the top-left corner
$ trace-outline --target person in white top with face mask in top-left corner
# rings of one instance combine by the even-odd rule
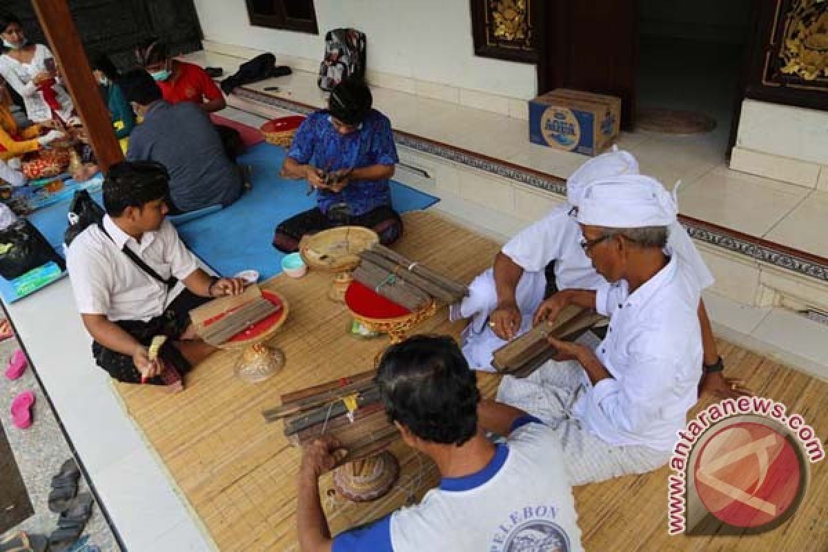
[[[0,15],[0,75],[23,98],[31,122],[54,118],[69,122],[75,114],[72,98],[60,84],[55,57],[42,44],[29,44],[20,20]]]

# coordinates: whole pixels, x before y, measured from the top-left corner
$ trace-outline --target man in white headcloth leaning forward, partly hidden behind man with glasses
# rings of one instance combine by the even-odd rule
[[[461,340],[469,366],[492,370],[493,351],[532,328],[533,315],[551,291],[595,290],[605,282],[579,246],[580,228],[571,215],[585,186],[591,182],[638,174],[635,157],[613,146],[612,151],[586,161],[570,176],[566,181],[565,204],[503,246],[493,268],[478,276],[469,286],[469,296],[451,310],[452,319],[470,319]],[[647,183],[662,189],[656,180],[648,179]],[[670,225],[668,243],[692,267],[700,289],[713,284],[713,276],[677,220]],[[748,390],[740,382],[725,378],[722,373],[723,365],[702,302],[698,314],[705,345],[705,376],[700,393],[721,397],[745,394]]]

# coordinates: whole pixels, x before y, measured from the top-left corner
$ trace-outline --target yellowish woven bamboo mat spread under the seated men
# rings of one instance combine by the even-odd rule
[[[470,281],[492,262],[498,246],[429,212],[404,215],[406,233],[395,246],[408,257]],[[331,275],[309,271],[300,280],[277,276],[265,288],[278,290],[290,316],[270,344],[286,354],[285,369],[267,382],[249,385],[233,377],[233,353],[217,353],[187,377],[177,396],[141,386],[117,385],[129,414],[165,463],[171,478],[220,550],[297,550],[296,472],[300,454],[286,444],[282,424],[267,425],[261,411],[279,396],[373,367],[387,338],[359,340],[345,329],[344,305],[326,294]],[[452,334],[443,307],[416,328],[420,333]],[[828,435],[828,385],[788,370],[728,343],[721,343],[729,374],[744,377],[758,394],[787,401],[805,416],[816,434]],[[498,378],[480,374],[485,396]],[[406,504],[438,481],[433,465],[398,443],[402,476],[383,499],[356,505],[328,497],[330,475],[320,489],[335,533],[370,521]],[[825,463],[813,473],[806,502],[792,521],[769,535],[744,539],[667,537],[667,470],[636,478],[581,487],[575,492],[587,550],[828,550],[821,518],[828,496]],[[331,500],[335,502],[331,502]],[[782,545],[782,542],[785,545]],[[788,545],[790,544],[790,546]],[[718,546],[718,547],[717,547]]]

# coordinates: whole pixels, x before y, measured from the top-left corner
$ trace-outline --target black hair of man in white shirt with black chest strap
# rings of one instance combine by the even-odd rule
[[[111,167],[103,180],[103,207],[119,217],[128,207],[142,208],[170,194],[170,175],[155,161],[123,161]]]

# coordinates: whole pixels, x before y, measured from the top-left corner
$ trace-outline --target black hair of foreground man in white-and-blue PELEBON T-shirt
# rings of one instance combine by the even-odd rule
[[[416,335],[392,345],[376,382],[388,420],[420,439],[460,446],[477,432],[477,379],[450,337]]]

